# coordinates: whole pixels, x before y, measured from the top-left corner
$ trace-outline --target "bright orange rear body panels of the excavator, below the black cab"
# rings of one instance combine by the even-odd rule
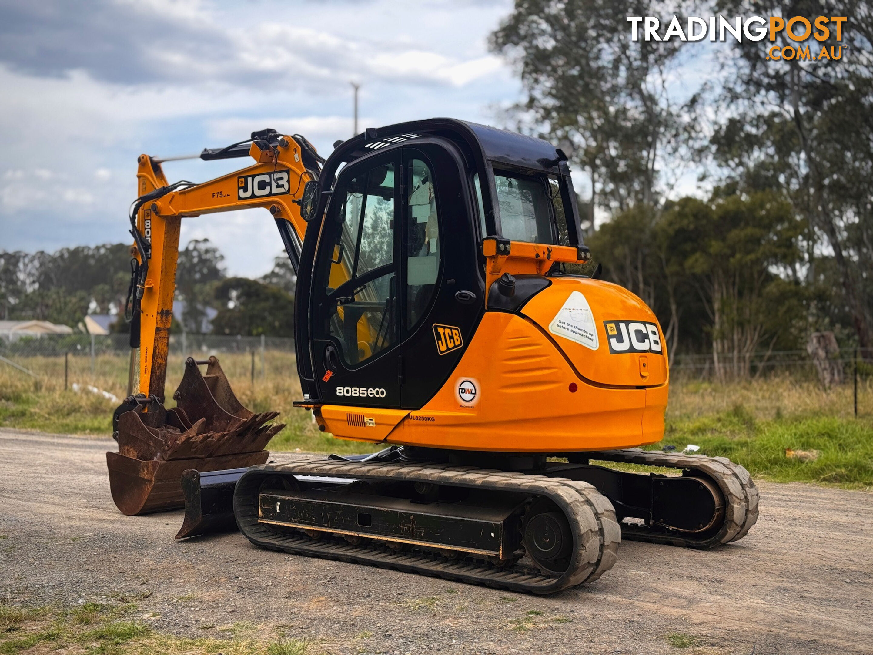
[[[555,314],[580,289],[599,323],[596,350],[548,333]],[[552,286],[534,297],[538,299],[530,308],[536,321],[518,314],[486,312],[448,382],[421,410],[408,415],[402,411],[407,416],[388,431],[386,443],[475,451],[574,452],[629,448],[663,438],[666,355],[610,354],[603,327],[603,321],[615,317],[657,324],[650,309],[622,287],[590,279],[553,279]],[[528,314],[528,307],[523,314]],[[641,372],[641,356],[651,362],[650,370]],[[470,386],[462,397],[459,389],[464,380]],[[340,438],[361,439],[368,430],[375,435],[373,428],[351,429],[347,413],[369,417],[384,411],[329,407],[329,416],[324,411],[327,406],[322,408],[327,430]]]

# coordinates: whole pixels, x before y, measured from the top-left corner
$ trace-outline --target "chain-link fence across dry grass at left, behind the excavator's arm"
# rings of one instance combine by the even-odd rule
[[[218,357],[232,382],[265,382],[297,375],[294,340],[290,338],[171,334],[168,389],[175,389],[182,378],[187,357],[206,359],[210,355]],[[137,351],[134,357],[138,356]],[[123,397],[128,381],[137,389],[138,370],[138,359],[131,367],[127,334],[0,335],[0,376],[30,376],[42,389],[91,385]]]

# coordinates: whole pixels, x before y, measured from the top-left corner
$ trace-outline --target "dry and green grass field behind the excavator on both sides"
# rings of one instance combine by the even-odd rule
[[[273,438],[274,451],[373,452],[377,445],[334,439],[318,431],[312,415],[292,406],[299,383],[292,355],[273,363],[277,373],[251,382],[245,355],[222,357],[240,401],[254,411],[278,410],[285,430]],[[237,362],[237,359],[239,360]],[[182,362],[170,362],[167,389],[175,389]],[[279,374],[279,372],[281,372]],[[124,396],[123,378],[92,379],[100,389]],[[171,393],[167,394],[172,396]],[[63,390],[58,383],[35,383],[0,369],[0,425],[69,434],[106,435],[114,403],[89,391]],[[803,481],[873,489],[873,386],[859,390],[854,417],[851,385],[822,390],[814,382],[788,376],[717,385],[676,381],[670,388],[662,448],[700,446],[700,452],[731,458],[759,479]],[[812,461],[787,458],[786,449],[817,451]]]

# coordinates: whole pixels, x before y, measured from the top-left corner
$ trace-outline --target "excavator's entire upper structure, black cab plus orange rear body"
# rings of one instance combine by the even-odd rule
[[[654,314],[563,272],[589,252],[560,148],[464,121],[402,123],[344,142],[319,185],[295,327],[299,405],[323,430],[482,451],[497,432],[514,452],[660,438]],[[631,324],[639,347],[614,352]]]

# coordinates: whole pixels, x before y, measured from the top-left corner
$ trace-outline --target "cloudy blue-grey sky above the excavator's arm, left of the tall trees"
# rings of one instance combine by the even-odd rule
[[[519,82],[487,51],[512,0],[0,0],[0,249],[127,242],[136,157],[185,155],[254,129],[323,155],[361,129],[432,116],[494,123]],[[168,162],[205,181],[240,160]],[[258,210],[187,218],[229,272],[281,252]]]

